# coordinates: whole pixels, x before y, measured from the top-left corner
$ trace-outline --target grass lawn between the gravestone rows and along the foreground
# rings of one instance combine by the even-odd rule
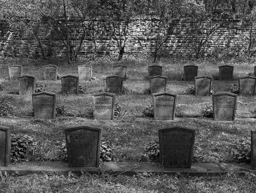
[[[0,119],[0,124],[11,125],[12,133],[26,134],[36,139],[39,149],[39,159],[58,160],[60,159],[61,144],[64,142],[63,129],[83,124],[103,127],[103,140],[108,140],[113,145],[113,154],[120,161],[139,161],[145,151],[146,145],[151,141],[158,141],[158,129],[179,125],[196,128],[196,143],[193,162],[236,162],[239,154],[244,154],[250,149],[250,130],[256,128],[255,121],[235,121],[234,123],[209,122],[205,118],[200,118],[204,107],[212,105],[212,97],[196,97],[186,94],[186,89],[193,81],[181,81],[183,66],[188,64],[198,65],[198,76],[212,76],[217,74],[219,65],[227,63],[216,62],[189,62],[163,60],[163,75],[167,76],[167,89],[170,93],[177,94],[177,117],[199,117],[196,119],[181,119],[174,123],[155,121],[136,121],[137,117],[142,117],[143,109],[151,105],[151,95],[144,94],[149,81],[147,79],[150,64],[147,60],[127,60],[122,64],[127,65],[127,81],[124,87],[127,93],[117,95],[117,102],[123,107],[120,117],[113,121],[93,120],[89,117],[92,108],[91,95],[105,88],[105,76],[112,74],[113,65],[116,62],[111,60],[98,60],[90,62],[93,66],[94,81],[82,83],[86,92],[79,95],[60,95],[61,85],[58,81],[43,81],[43,65],[58,65],[61,74],[77,75],[77,65],[88,64],[88,62],[76,62],[75,65],[67,65],[65,62],[51,62],[29,59],[1,59],[0,60],[0,81],[4,85],[0,100],[11,102],[14,108],[14,117]],[[56,93],[57,105],[63,105],[66,112],[74,117],[57,117],[56,120],[39,120],[31,117],[32,100],[29,97],[13,94],[18,91],[18,81],[8,80],[8,65],[23,65],[23,74],[30,74],[36,77],[39,84],[46,85],[46,91]],[[252,64],[232,63],[234,66],[234,76],[242,76],[253,72]],[[238,81],[214,81],[212,89],[217,91],[228,91],[228,87],[238,84]],[[238,97],[238,107],[236,117],[255,117],[254,113],[255,97]],[[198,105],[199,104],[199,105]],[[148,118],[151,119],[151,118]],[[127,179],[124,179],[127,178]],[[255,186],[255,177],[251,177]],[[19,186],[26,192],[26,185],[30,185],[32,191],[55,191],[62,190],[69,192],[74,186],[77,191],[112,191],[117,189],[120,192],[154,192],[176,191],[181,192],[249,192],[252,190],[253,182],[247,183],[248,176],[226,175],[215,178],[184,178],[159,176],[134,176],[132,178],[121,176],[112,178],[108,176],[84,176],[72,185],[58,185],[69,183],[69,178],[53,175],[44,180],[44,176],[34,175],[19,178],[4,178],[1,187],[10,191],[19,190]],[[75,179],[77,180],[77,179]],[[15,183],[13,187],[8,187],[8,183]],[[48,183],[49,182],[49,183]],[[53,185],[51,184],[53,183]],[[245,183],[245,184],[244,184]],[[47,184],[47,185],[46,185]],[[134,186],[131,186],[133,185]],[[184,186],[186,184],[186,187]],[[57,185],[57,187],[56,187]],[[92,190],[91,187],[96,187]],[[38,188],[38,189],[37,189]],[[54,189],[57,188],[57,189]],[[74,189],[73,189],[74,190]],[[27,192],[29,192],[27,190]]]

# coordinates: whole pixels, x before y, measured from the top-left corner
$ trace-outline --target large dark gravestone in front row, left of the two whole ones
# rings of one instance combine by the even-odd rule
[[[68,166],[98,167],[101,152],[101,128],[79,126],[65,129]]]

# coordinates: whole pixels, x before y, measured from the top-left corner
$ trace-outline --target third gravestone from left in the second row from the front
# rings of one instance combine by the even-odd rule
[[[170,93],[153,94],[154,118],[156,120],[173,120],[176,95]]]

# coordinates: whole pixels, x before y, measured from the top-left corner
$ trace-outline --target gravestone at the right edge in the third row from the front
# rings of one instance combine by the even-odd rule
[[[255,76],[239,77],[239,93],[240,95],[255,95]]]

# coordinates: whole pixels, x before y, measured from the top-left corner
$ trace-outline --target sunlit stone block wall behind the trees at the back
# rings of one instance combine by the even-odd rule
[[[154,52],[155,45],[155,18],[136,18],[129,27],[125,56],[150,56]],[[188,56],[195,55],[195,48],[200,38],[205,37],[207,29],[218,26],[215,32],[209,36],[203,55],[241,55],[248,46],[250,36],[250,23],[242,22],[239,18],[215,18],[212,25],[205,21],[195,21],[192,18],[181,18],[174,25],[174,34],[170,37],[162,49],[162,55]],[[198,27],[200,26],[200,27]],[[196,30],[197,29],[197,30]],[[200,30],[198,30],[200,29]],[[65,46],[58,38],[58,34],[49,27],[47,22],[42,22],[37,27],[37,32],[42,41],[44,51],[48,57],[62,56],[65,54]],[[96,44],[97,55],[118,55],[118,48],[108,33],[101,32]],[[80,55],[94,53],[94,43],[88,37],[82,44]],[[0,55],[37,57],[41,55],[39,43],[32,31],[23,27],[15,32],[8,32],[8,25],[0,22]]]

